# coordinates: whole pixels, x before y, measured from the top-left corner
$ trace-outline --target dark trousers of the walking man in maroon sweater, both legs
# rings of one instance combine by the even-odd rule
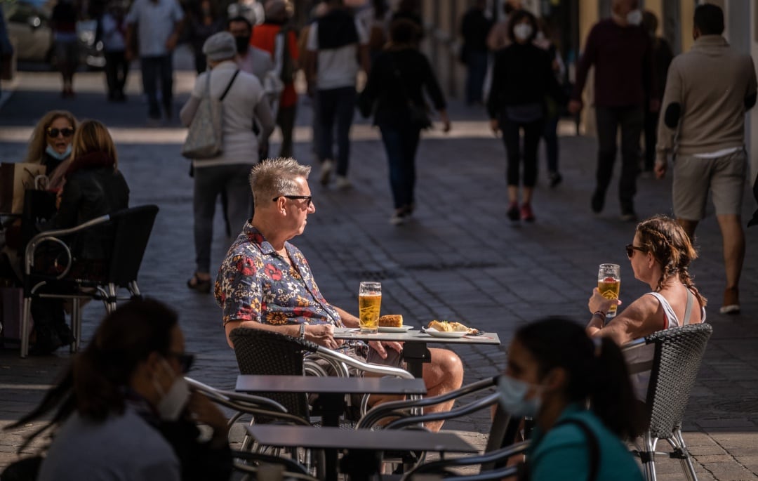
[[[597,190],[605,195],[613,175],[616,156],[616,134],[621,127],[621,177],[619,178],[619,201],[622,213],[634,212],[634,194],[637,193],[638,157],[640,135],[644,124],[641,105],[629,107],[596,107],[597,141]]]

